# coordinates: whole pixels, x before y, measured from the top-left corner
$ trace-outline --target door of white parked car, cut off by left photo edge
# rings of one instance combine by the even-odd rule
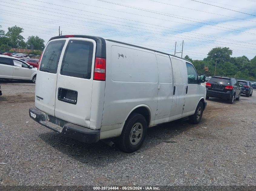
[[[0,78],[12,79],[13,64],[11,58],[0,57]]]

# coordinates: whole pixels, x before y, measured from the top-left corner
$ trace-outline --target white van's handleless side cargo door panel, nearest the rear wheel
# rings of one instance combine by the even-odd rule
[[[154,124],[169,121],[172,110],[172,69],[168,55],[156,53],[158,66],[158,103]]]

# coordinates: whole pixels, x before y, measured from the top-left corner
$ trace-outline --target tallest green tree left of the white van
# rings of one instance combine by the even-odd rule
[[[6,37],[10,39],[12,48],[23,48],[22,46],[25,46],[25,38],[21,35],[23,30],[23,28],[17,27],[16,25],[13,27],[8,27]]]

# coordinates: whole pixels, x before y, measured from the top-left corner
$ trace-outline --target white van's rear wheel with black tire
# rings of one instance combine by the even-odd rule
[[[139,124],[137,129],[138,131],[134,131],[135,133],[133,135],[135,137],[132,137],[131,130],[136,128],[138,124]],[[141,128],[142,131],[139,128]],[[120,149],[127,153],[132,153],[137,151],[143,144],[147,131],[148,131],[148,125],[145,117],[139,113],[131,113],[131,115],[126,120],[122,134],[119,137]],[[140,134],[140,132],[142,133],[142,135]],[[136,143],[136,141],[138,142]]]

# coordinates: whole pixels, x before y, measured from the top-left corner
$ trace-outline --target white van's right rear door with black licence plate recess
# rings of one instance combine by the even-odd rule
[[[55,91],[55,116],[87,127],[90,126],[95,49],[95,40],[68,38]]]

